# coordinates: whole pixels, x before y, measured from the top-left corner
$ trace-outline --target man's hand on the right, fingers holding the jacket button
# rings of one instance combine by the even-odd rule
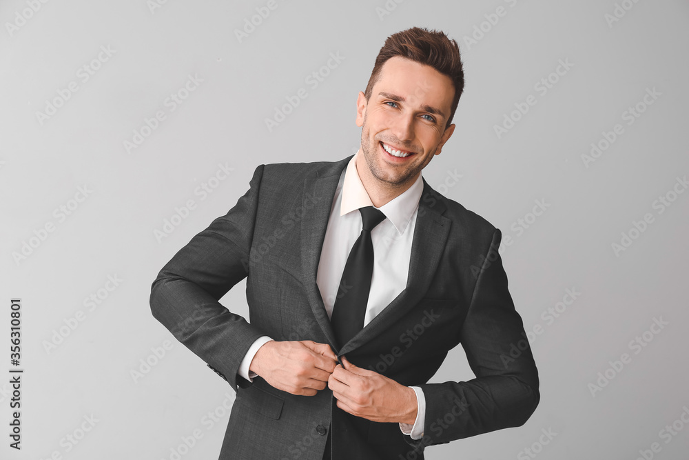
[[[378,422],[413,425],[418,403],[414,390],[378,372],[354,366],[342,357],[328,380],[338,408],[356,417]]]

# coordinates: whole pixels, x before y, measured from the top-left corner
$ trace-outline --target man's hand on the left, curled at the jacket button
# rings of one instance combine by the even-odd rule
[[[328,386],[337,357],[329,345],[304,341],[269,341],[251,360],[256,372],[273,388],[291,394],[313,396]]]

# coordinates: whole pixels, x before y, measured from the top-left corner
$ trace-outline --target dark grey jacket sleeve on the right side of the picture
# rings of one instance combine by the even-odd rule
[[[522,318],[507,288],[495,230],[485,251],[461,343],[476,378],[422,385],[426,398],[425,446],[522,426],[539,402],[538,372]]]

